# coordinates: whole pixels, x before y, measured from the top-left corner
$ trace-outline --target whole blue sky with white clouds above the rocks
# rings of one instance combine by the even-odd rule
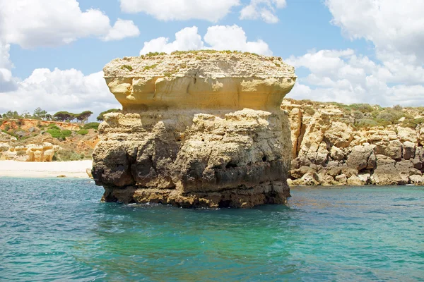
[[[281,56],[287,97],[424,106],[422,0],[0,0],[0,113],[119,108],[112,59],[149,51]]]

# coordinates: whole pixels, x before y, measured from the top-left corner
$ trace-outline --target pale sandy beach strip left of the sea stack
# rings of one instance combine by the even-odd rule
[[[25,162],[25,161],[0,161],[0,177],[58,177],[88,178],[86,169],[93,166],[93,161],[54,161]]]

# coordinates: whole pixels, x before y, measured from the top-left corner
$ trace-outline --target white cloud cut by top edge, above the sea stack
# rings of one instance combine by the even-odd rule
[[[239,0],[120,0],[125,13],[147,13],[158,20],[209,20],[225,17]]]

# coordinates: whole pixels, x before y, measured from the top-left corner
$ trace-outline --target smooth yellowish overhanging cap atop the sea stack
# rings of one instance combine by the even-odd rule
[[[275,110],[297,78],[279,57],[210,50],[124,57],[103,71],[124,110]]]

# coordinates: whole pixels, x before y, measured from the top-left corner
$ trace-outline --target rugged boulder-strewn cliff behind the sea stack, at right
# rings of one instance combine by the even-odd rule
[[[424,111],[286,99],[290,185],[423,185]]]

